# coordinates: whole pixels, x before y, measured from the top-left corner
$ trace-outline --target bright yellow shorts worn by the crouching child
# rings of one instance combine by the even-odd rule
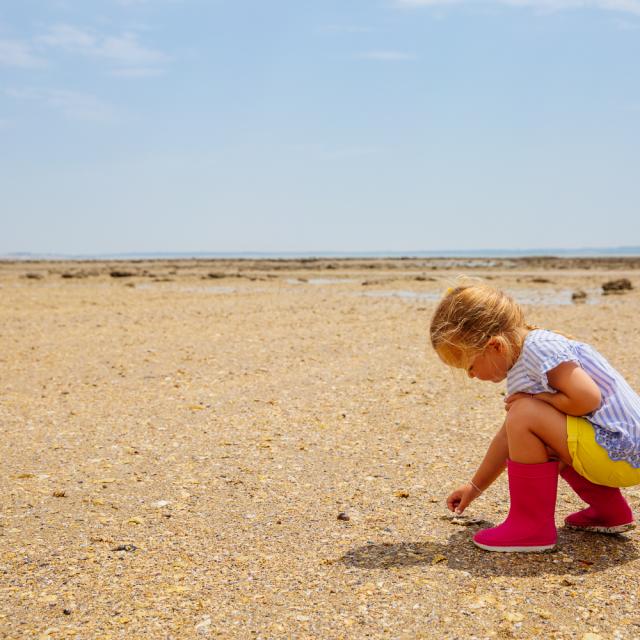
[[[586,418],[567,416],[567,445],[573,468],[587,480],[607,487],[640,484],[640,469],[624,460],[611,460],[596,442],[593,425]]]

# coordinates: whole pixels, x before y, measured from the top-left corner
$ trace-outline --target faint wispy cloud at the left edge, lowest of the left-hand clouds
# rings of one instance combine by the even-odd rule
[[[5,89],[4,94],[14,100],[37,102],[58,111],[72,120],[113,122],[116,113],[111,105],[94,95],[66,89]]]

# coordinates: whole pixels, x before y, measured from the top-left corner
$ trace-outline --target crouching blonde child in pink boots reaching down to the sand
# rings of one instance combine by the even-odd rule
[[[431,343],[471,378],[507,380],[506,419],[477,471],[447,499],[462,513],[502,473],[511,506],[479,531],[489,551],[544,551],[557,540],[558,472],[589,507],[565,524],[619,533],[633,514],[619,487],[640,484],[640,397],[595,349],[525,323],[506,294],[482,284],[449,289],[431,322]]]

